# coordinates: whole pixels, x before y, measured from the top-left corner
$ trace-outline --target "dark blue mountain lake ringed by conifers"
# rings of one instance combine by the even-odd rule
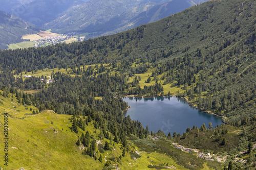
[[[193,125],[200,128],[203,123],[208,127],[211,122],[215,127],[221,125],[221,117],[202,112],[176,97],[155,98],[123,98],[131,107],[124,116],[130,115],[132,120],[139,120],[143,127],[148,125],[150,131],[161,129],[166,135],[173,132],[181,135],[188,127]]]

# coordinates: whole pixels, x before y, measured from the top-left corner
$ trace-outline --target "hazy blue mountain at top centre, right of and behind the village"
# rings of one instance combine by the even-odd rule
[[[157,21],[207,0],[91,0],[62,13],[44,28],[53,32],[109,35]]]

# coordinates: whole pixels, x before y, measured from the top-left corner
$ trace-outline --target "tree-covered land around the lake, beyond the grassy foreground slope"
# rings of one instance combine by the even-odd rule
[[[50,109],[73,115],[74,133],[83,130],[86,122],[93,122],[95,129],[104,136],[111,134],[123,148],[136,145],[147,153],[157,148],[185,168],[200,169],[205,163],[214,169],[252,168],[256,140],[255,8],[253,1],[209,1],[111,36],[1,51],[2,95],[15,96],[18,103],[33,105],[39,112]],[[36,75],[40,70],[50,70],[54,82],[41,82],[44,75],[19,77],[28,72]],[[188,128],[183,135],[150,133],[139,122],[123,117],[127,108],[120,98],[123,95],[177,95],[201,110],[224,116],[225,125]],[[154,135],[160,140],[151,140]],[[93,157],[94,144],[91,149],[83,136],[79,141]],[[226,161],[208,162],[195,158],[194,153],[185,157],[173,149],[172,142],[222,155]]]

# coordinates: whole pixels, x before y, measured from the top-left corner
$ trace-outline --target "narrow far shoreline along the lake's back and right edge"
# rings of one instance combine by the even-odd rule
[[[163,97],[163,98],[176,97],[176,98],[178,98],[176,95],[170,95],[170,96],[166,96],[166,95],[159,95],[159,96],[125,95],[125,96],[123,96],[122,98],[126,98],[126,97],[127,97],[127,98],[155,98],[155,97]],[[183,97],[182,97],[182,98],[180,98],[180,99],[185,100],[185,101],[189,104],[189,106],[194,107],[194,108],[196,108],[196,109],[198,109],[198,110],[200,110],[200,111],[202,111],[202,112],[204,112],[204,113],[208,113],[208,114],[212,114],[212,115],[217,116],[217,117],[221,117],[221,118],[222,118],[222,122],[225,124],[225,122],[224,122],[224,120],[226,119],[225,116],[219,116],[218,114],[212,113],[211,111],[199,109],[196,105],[191,105],[191,104],[190,104],[190,101],[189,101],[187,98],[183,98]],[[128,106],[124,111],[128,111],[129,108],[131,108],[131,107]]]

